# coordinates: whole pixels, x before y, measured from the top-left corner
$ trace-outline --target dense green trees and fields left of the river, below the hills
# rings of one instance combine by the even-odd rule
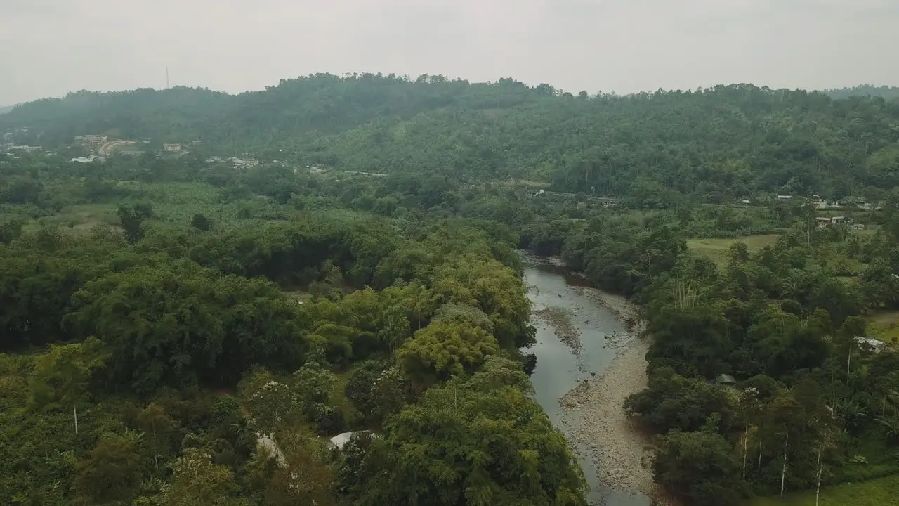
[[[584,503],[529,396],[503,226],[279,202],[266,178],[299,183],[277,168],[212,185],[202,162],[162,163],[4,165],[5,194],[38,185],[4,203],[4,502]],[[353,429],[378,438],[335,454]]]

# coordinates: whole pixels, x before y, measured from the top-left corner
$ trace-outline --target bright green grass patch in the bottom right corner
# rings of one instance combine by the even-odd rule
[[[821,489],[820,506],[899,506],[899,475]],[[761,497],[746,506],[814,506],[814,490]]]

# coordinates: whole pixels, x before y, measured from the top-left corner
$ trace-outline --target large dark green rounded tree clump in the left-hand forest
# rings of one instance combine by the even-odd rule
[[[136,267],[88,283],[64,323],[96,335],[119,381],[142,393],[200,380],[234,384],[252,364],[298,365],[293,304],[262,279],[190,263]]]

